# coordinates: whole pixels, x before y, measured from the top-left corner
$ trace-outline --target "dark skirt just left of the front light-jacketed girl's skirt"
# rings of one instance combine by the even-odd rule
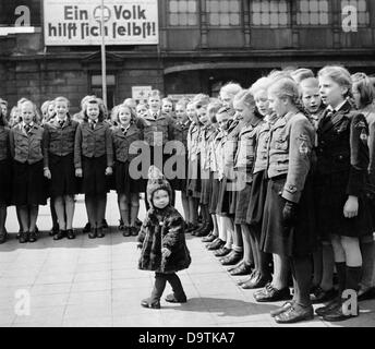
[[[256,172],[253,176],[253,184],[250,192],[249,207],[246,212],[246,222],[253,226],[255,231],[261,231],[264,213],[264,205],[267,195],[266,171]]]

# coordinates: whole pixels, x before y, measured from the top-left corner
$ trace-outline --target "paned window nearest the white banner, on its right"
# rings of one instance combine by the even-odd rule
[[[169,24],[172,26],[197,25],[196,0],[169,0]]]

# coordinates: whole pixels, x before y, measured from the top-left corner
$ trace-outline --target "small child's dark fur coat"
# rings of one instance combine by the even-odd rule
[[[138,268],[158,273],[174,273],[191,264],[186,248],[184,220],[180,213],[168,205],[164,209],[150,208],[140,230],[137,241],[142,243]],[[165,258],[161,249],[171,254]]]

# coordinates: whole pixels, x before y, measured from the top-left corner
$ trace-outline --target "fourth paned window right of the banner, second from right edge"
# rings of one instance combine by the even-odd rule
[[[298,25],[328,25],[328,0],[299,0]]]

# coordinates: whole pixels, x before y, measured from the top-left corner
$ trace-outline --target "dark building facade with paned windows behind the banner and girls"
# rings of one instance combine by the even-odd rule
[[[109,107],[131,97],[133,86],[152,86],[165,95],[215,95],[228,81],[247,87],[286,67],[317,70],[339,63],[375,72],[371,0],[155,1],[158,45],[107,46]],[[20,5],[29,10],[29,32],[1,32],[25,13]],[[1,0],[0,97],[10,105],[21,97],[40,105],[64,95],[75,111],[83,96],[101,95],[100,47],[70,46],[69,40],[46,46],[46,15],[43,1]]]

